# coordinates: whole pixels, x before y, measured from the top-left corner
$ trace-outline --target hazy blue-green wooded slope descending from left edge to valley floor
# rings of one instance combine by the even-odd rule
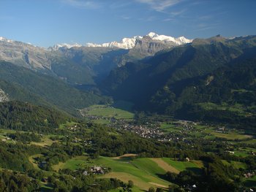
[[[5,61],[1,61],[0,66],[0,88],[10,99],[51,104],[73,114],[76,109],[102,101],[100,96],[78,91],[54,77],[38,74]]]

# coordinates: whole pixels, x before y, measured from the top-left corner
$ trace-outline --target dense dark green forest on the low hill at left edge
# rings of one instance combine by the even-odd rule
[[[69,120],[63,112],[20,101],[0,104],[0,126],[20,131],[48,132]]]

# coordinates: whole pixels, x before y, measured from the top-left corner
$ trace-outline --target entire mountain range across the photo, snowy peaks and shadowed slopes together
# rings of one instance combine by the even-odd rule
[[[136,110],[201,120],[211,119],[222,104],[239,104],[247,115],[227,110],[225,120],[253,121],[248,114],[254,114],[256,98],[255,53],[256,36],[190,40],[151,32],[103,45],[48,49],[1,37],[0,98],[72,114],[113,98],[131,101]]]

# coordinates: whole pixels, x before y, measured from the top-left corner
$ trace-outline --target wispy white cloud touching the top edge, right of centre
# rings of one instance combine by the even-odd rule
[[[142,4],[148,4],[151,9],[154,9],[158,12],[162,12],[167,7],[171,7],[174,4],[178,4],[181,0],[135,0]]]

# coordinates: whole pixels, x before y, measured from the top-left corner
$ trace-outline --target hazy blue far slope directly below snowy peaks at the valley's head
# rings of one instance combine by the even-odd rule
[[[127,53],[108,47],[62,47],[52,59],[51,71],[75,85],[95,85],[118,66],[118,57]]]

